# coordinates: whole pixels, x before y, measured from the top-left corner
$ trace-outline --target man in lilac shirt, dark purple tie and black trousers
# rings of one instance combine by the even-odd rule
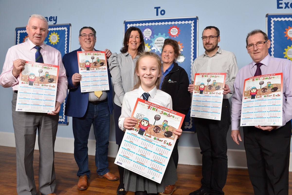
[[[239,144],[244,79],[255,75],[260,62],[261,75],[283,73],[283,121],[282,126],[244,126],[244,147],[247,168],[255,195],[288,195],[289,155],[292,118],[292,62],[273,58],[268,49],[271,42],[261,30],[253,30],[246,38],[247,52],[252,62],[241,68],[234,82],[234,95],[231,109],[231,137]]]

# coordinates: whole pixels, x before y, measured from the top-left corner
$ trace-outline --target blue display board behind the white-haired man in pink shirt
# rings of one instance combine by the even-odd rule
[[[46,37],[44,43],[52,46],[60,51],[62,57],[65,53],[70,52],[71,44],[71,24],[60,24],[60,25],[49,25],[48,36]],[[15,45],[27,41],[28,34],[26,32],[26,27],[15,28]],[[66,100],[61,105],[59,112],[59,124],[68,125],[69,117],[65,116],[65,106]]]

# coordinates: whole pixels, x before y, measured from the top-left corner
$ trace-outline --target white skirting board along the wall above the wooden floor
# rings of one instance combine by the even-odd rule
[[[0,145],[15,147],[14,133],[0,132]],[[37,138],[34,147],[39,149]],[[74,153],[74,139],[65,137],[56,137],[55,152]],[[116,142],[109,142],[108,156],[115,158],[118,152]],[[197,147],[178,146],[179,164],[185,165],[202,165],[201,150]],[[95,140],[88,140],[88,155],[95,155]],[[227,150],[228,168],[246,169],[246,156],[244,150]],[[289,171],[292,172],[292,155],[290,153]]]

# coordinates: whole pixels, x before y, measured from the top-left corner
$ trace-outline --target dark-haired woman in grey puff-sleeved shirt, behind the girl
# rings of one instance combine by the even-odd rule
[[[114,122],[116,126],[116,143],[121,145],[124,132],[119,128],[119,117],[125,93],[131,91],[134,86],[134,69],[139,53],[145,48],[143,34],[137,27],[130,27],[125,33],[124,47],[121,53],[113,53],[109,58],[109,70],[114,84]],[[118,166],[120,174],[120,184],[117,195],[125,195],[124,188],[124,168]]]

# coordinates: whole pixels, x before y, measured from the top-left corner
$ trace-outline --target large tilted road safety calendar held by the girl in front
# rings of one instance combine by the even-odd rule
[[[138,123],[126,130],[115,164],[161,183],[185,115],[138,98],[131,117]]]

